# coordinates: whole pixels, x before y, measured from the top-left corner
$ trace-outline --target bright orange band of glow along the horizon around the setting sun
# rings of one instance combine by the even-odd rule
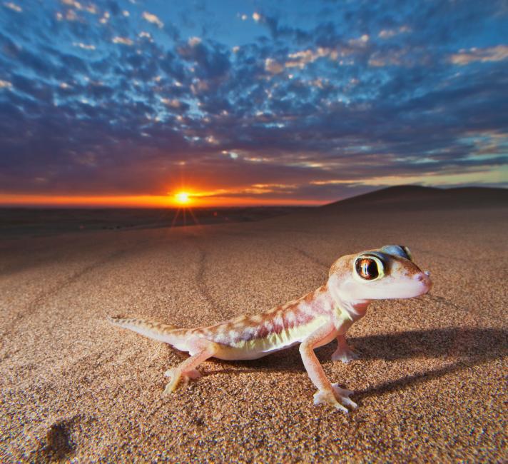
[[[182,193],[186,197],[181,196]],[[186,198],[186,201],[182,201]],[[243,206],[318,206],[325,202],[296,198],[256,198],[178,191],[173,195],[66,196],[0,194],[0,206],[47,208],[227,208]]]

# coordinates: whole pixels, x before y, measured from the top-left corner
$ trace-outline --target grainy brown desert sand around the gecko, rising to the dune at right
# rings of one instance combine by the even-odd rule
[[[250,223],[96,231],[0,244],[0,460],[508,460],[507,191],[395,188]],[[312,291],[339,256],[405,244],[430,294],[377,301],[332,362],[345,415],[313,405],[298,347],[209,360],[163,395],[185,355],[106,323],[182,327]]]

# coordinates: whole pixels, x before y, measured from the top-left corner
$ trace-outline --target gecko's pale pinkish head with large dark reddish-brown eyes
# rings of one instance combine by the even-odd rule
[[[407,246],[386,245],[337,259],[328,286],[348,301],[412,298],[430,290],[429,275],[412,261]]]

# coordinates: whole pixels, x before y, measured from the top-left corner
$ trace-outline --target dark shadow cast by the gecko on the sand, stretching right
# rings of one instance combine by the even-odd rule
[[[442,358],[443,360],[449,358],[452,361],[423,373],[407,375],[365,390],[357,390],[355,392],[357,398],[400,390],[508,355],[508,331],[496,328],[437,328],[406,331],[347,338],[347,343],[360,355],[360,360],[355,361],[356,363],[361,363],[362,360],[411,358]],[[330,356],[335,348],[335,343],[317,348],[316,355],[320,363],[330,362]],[[224,366],[231,365],[228,361],[216,361],[216,363]],[[258,360],[235,361],[234,364],[238,368],[208,370],[207,373],[208,375],[219,373],[239,375],[263,370],[305,372],[298,346]]]

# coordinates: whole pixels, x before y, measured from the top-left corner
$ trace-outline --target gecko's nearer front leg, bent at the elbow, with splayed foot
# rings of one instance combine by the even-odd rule
[[[325,345],[335,338],[336,335],[337,329],[331,322],[318,328],[300,344],[300,355],[310,380],[313,381],[318,390],[314,395],[314,404],[327,403],[347,413],[348,410],[343,405],[348,405],[352,408],[357,407],[356,403],[349,398],[352,392],[350,390],[343,390],[336,383],[330,383],[314,353],[315,348]]]

